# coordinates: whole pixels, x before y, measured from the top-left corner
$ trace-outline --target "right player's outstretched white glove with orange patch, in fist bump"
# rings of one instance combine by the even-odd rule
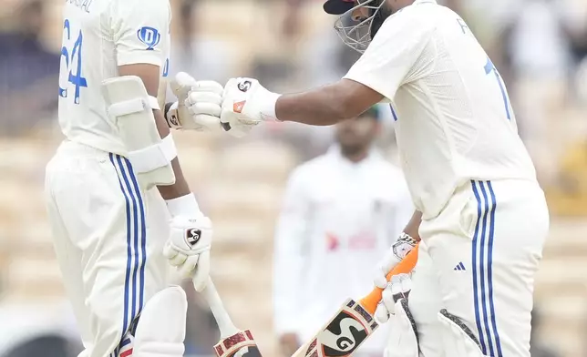
[[[222,126],[234,130],[235,136],[244,136],[263,121],[277,120],[275,103],[278,97],[280,95],[268,91],[256,79],[230,79],[222,94]]]

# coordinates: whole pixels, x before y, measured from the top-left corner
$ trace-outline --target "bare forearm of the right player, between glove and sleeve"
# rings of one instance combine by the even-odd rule
[[[345,106],[344,93],[336,85],[319,87],[300,94],[283,95],[277,99],[275,114],[281,121],[329,126],[356,117],[361,112]]]

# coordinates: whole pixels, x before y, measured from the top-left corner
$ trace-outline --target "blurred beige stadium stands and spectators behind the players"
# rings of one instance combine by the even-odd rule
[[[551,355],[536,352],[540,342],[557,356],[584,357],[587,1],[439,2],[469,22],[504,76],[549,200],[551,238],[536,286],[541,320],[532,355]],[[31,342],[31,331],[39,331],[34,338],[46,346],[43,356],[67,356],[62,350],[69,347],[72,355],[78,351],[75,324],[63,326],[71,312],[60,308],[64,292],[42,199],[46,161],[61,139],[56,108],[62,3],[0,0],[0,356],[34,349],[15,344]],[[170,73],[185,70],[221,83],[257,76],[274,91],[344,76],[357,55],[338,40],[322,3],[171,0]],[[394,161],[393,123],[386,116],[377,145]],[[264,354],[278,355],[270,308],[274,222],[291,170],[323,153],[333,130],[275,124],[243,139],[194,135],[177,133],[176,141],[191,187],[214,221],[212,274],[236,323],[254,331]],[[218,341],[215,321],[189,284],[185,288],[191,301],[187,351],[210,355]]]

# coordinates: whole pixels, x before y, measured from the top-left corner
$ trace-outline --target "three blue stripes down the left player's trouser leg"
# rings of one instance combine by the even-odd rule
[[[109,158],[118,174],[118,184],[126,201],[127,225],[127,269],[124,282],[124,315],[120,343],[111,354],[113,357],[116,357],[120,348],[124,346],[122,339],[124,339],[125,334],[129,331],[130,324],[139,316],[143,306],[145,264],[147,260],[147,230],[145,209],[139,184],[129,160],[112,153],[109,154]],[[139,283],[137,282],[138,277]],[[139,285],[139,291],[137,291],[137,285]],[[139,306],[137,306],[138,299]]]

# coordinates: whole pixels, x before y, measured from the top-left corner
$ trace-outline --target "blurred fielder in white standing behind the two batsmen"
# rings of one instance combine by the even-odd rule
[[[378,110],[337,124],[335,145],[289,179],[273,258],[274,323],[285,356],[314,336],[342,297],[370,289],[373,261],[414,211],[401,170],[373,148]],[[386,332],[375,336],[361,355],[382,355]]]

